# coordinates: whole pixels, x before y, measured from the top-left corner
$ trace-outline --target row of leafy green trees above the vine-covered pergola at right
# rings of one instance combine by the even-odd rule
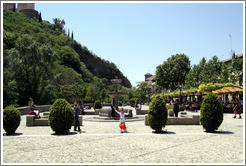
[[[243,84],[243,59],[235,53],[231,66],[227,66],[217,56],[208,61],[203,57],[199,64],[190,66],[186,55],[176,54],[156,68],[156,91],[171,90],[172,94],[166,94],[170,96],[189,90],[211,92],[218,87],[235,84]]]

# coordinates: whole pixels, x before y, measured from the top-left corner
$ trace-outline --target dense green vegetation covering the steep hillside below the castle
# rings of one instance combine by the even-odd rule
[[[122,79],[121,89],[131,88],[114,63],[103,60],[65,34],[64,20],[54,24],[21,13],[3,12],[4,107],[68,102],[110,101],[110,80]],[[126,90],[128,91],[128,90]]]

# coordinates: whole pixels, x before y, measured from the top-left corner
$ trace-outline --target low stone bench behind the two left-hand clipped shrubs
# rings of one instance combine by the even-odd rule
[[[26,116],[26,126],[49,126],[48,118],[34,118],[35,115],[27,115]],[[79,125],[83,125],[83,116],[79,115]]]

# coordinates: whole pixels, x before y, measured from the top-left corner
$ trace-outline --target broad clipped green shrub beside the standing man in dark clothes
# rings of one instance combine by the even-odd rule
[[[66,134],[74,123],[74,112],[65,99],[57,99],[50,107],[48,124],[56,134]]]

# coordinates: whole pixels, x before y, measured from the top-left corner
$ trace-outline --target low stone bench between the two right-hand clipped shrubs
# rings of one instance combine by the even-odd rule
[[[144,124],[149,125],[148,114],[145,114]],[[192,117],[168,117],[166,125],[199,125],[200,115],[193,115]]]

